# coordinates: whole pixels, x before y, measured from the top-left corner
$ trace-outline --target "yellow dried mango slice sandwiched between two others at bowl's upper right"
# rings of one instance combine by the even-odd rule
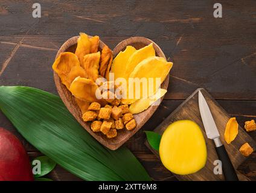
[[[138,49],[129,57],[127,61],[126,70],[124,72],[124,78],[126,80],[129,78],[130,74],[132,73],[133,69],[144,59],[148,57],[155,56],[155,49],[153,48],[153,43],[150,45],[145,46],[144,48]]]

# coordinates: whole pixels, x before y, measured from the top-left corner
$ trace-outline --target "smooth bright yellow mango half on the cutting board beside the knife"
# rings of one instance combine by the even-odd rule
[[[170,124],[159,145],[162,164],[174,174],[187,175],[205,166],[207,149],[200,127],[193,121]]]

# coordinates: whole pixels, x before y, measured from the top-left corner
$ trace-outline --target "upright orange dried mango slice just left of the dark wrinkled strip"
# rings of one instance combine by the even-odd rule
[[[98,78],[98,68],[100,63],[100,52],[86,54],[83,57],[83,68],[88,75],[88,78],[96,81]]]

